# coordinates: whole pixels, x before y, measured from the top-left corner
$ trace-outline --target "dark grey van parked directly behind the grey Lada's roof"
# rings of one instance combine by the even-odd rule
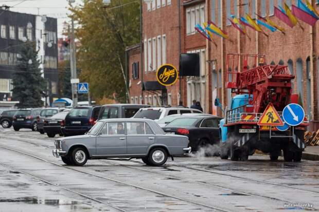
[[[103,105],[98,120],[131,118],[140,109],[150,107],[149,105],[139,104],[109,104]]]

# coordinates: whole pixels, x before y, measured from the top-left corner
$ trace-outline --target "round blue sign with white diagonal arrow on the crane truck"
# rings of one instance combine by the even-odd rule
[[[282,118],[290,126],[297,126],[305,119],[304,108],[298,104],[291,103],[282,110]]]

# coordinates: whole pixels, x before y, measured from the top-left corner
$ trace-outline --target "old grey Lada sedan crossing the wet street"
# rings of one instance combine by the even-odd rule
[[[149,119],[104,119],[83,136],[55,140],[55,157],[82,166],[88,159],[137,158],[147,165],[163,165],[167,157],[189,153],[188,137],[166,134]]]

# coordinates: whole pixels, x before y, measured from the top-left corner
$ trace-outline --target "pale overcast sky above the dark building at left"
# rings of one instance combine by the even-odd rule
[[[76,4],[81,3],[76,0]],[[63,22],[68,21],[66,13],[68,12],[67,0],[0,0],[0,5],[14,6],[11,11],[47,15],[58,18],[58,37],[62,34]]]

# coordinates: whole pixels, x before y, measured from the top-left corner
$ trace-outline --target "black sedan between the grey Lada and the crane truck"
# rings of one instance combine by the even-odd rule
[[[208,144],[219,144],[219,122],[222,118],[213,115],[193,115],[173,120],[163,130],[167,133],[182,134],[189,139],[192,151]],[[206,151],[205,151],[206,153]],[[209,152],[207,152],[209,155]]]

